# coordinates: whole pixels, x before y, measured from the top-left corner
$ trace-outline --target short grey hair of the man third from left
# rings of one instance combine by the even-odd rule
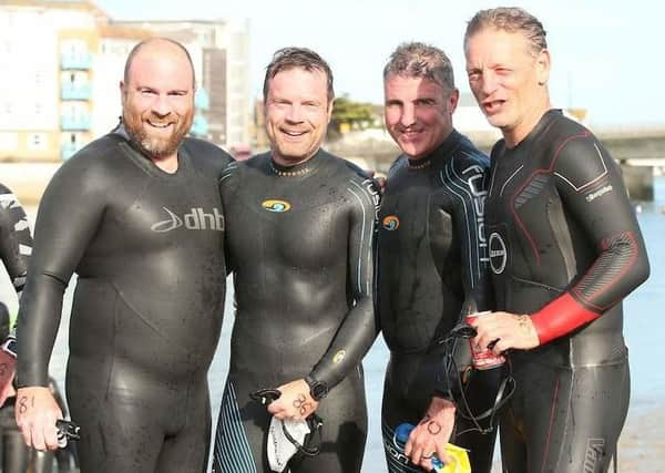
[[[401,43],[383,68],[383,80],[390,75],[427,78],[444,89],[454,89],[452,63],[446,53],[430,44]]]

